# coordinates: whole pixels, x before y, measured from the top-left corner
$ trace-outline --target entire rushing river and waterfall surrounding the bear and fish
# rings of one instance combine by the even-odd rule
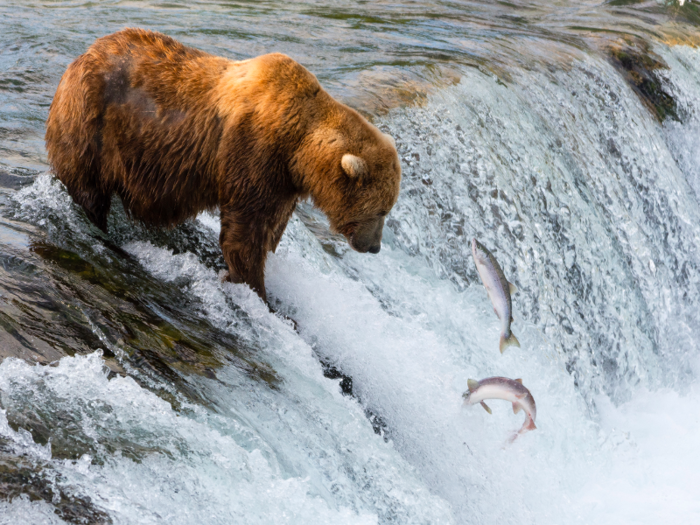
[[[96,230],[44,123],[126,26],[287,53],[393,135],[381,253],[302,204],[272,314],[215,216]],[[700,523],[698,44],[690,0],[1,1],[0,524]],[[537,401],[511,445],[462,406],[493,375]]]

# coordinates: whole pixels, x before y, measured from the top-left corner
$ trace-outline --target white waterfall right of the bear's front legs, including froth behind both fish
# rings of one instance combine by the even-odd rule
[[[697,51],[679,54],[686,67],[668,77],[677,90],[700,71]],[[693,91],[685,93],[678,100],[690,113]],[[507,86],[467,73],[425,107],[383,120],[406,169],[389,249],[378,260],[347,253],[338,262],[300,249],[294,234],[272,258],[270,290],[302,337],[353,378],[359,398],[381,414],[402,455],[450,501],[458,521],[556,515],[615,523],[644,507],[650,491],[697,486],[688,467],[680,485],[645,473],[644,486],[613,488],[611,476],[650,468],[644,456],[655,456],[668,434],[641,432],[643,425],[634,437],[613,430],[616,417],[629,422],[653,396],[622,413],[610,405],[640,387],[694,392],[682,401],[686,410],[697,395],[700,217],[686,181],[696,168],[676,162],[674,147],[682,148],[673,142],[694,125],[660,126],[607,63],[590,57],[568,69],[533,68]],[[472,235],[494,249],[520,288],[514,330],[523,348],[503,357],[475,277]],[[493,445],[506,419],[458,410],[467,378],[489,375],[523,377],[536,393],[547,432],[528,436],[517,453]],[[664,405],[670,400],[676,395],[654,399],[654,417],[669,411],[682,421],[683,412]],[[600,413],[589,412],[597,405],[605,431],[596,430]],[[679,465],[688,441],[676,444],[683,452],[671,461]],[[561,500],[543,497],[562,490]],[[633,503],[606,521],[577,500],[581,490],[602,506],[618,497]],[[697,511],[692,497],[680,501]]]

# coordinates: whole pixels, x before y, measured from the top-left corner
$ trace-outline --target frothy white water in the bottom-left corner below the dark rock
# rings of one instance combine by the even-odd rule
[[[75,432],[84,435],[76,439],[92,439],[94,454],[54,459],[50,469],[63,489],[90,496],[117,523],[377,523],[373,513],[329,506],[308,476],[285,475],[260,449],[247,450],[205,418],[175,412],[131,378],[108,380],[99,352],[55,367],[7,359],[0,391],[5,404],[40,405],[65,424],[78,423]],[[26,434],[0,425],[0,435],[24,454],[49,461]],[[21,502],[12,505],[28,512]]]

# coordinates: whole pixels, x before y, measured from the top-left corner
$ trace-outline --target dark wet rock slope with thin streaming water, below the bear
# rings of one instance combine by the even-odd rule
[[[143,275],[128,255],[86,255],[77,240],[71,251],[41,237],[29,235],[19,248],[0,239],[0,361],[48,364],[101,348],[114,373],[124,375],[126,360],[197,402],[206,403],[187,378],[216,380],[224,362],[275,388],[274,370],[240,338],[196,315],[178,283]]]

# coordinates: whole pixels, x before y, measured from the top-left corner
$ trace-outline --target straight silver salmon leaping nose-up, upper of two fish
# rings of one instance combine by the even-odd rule
[[[501,320],[501,340],[498,345],[501,353],[509,346],[519,347],[520,342],[510,331],[510,323],[513,322],[513,303],[510,295],[515,293],[517,288],[503,275],[503,270],[493,254],[476,239],[472,239],[472,255],[481,282],[484,283],[493,305],[493,311]]]

